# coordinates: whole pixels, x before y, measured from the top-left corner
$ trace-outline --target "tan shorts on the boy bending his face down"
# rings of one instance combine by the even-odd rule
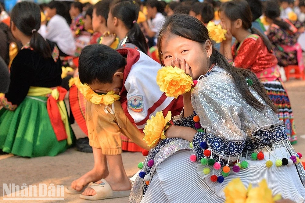
[[[120,101],[115,101],[112,105],[87,102],[85,119],[90,146],[102,149],[104,155],[122,153],[121,133],[135,144],[149,150],[143,141],[144,133],[141,133],[127,118]]]

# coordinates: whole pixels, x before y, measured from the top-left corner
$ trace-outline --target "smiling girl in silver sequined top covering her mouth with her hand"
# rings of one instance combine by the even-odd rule
[[[183,95],[184,110],[172,118],[167,138],[149,151],[141,170],[149,176],[136,178],[129,201],[222,203],[224,188],[239,177],[246,187],[264,178],[273,194],[304,202],[304,169],[297,162],[286,164],[296,152],[255,74],[231,66],[213,47],[206,27],[188,15],[167,18],[158,52],[163,66],[180,67],[198,83]],[[285,166],[269,168],[255,155],[273,163],[284,157]]]

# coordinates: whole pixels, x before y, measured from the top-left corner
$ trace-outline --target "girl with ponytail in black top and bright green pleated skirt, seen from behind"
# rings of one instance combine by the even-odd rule
[[[33,2],[12,9],[12,34],[23,47],[12,62],[9,90],[0,93],[0,149],[24,157],[55,156],[74,138],[63,102],[66,90],[59,87],[59,50],[37,32],[40,21]]]

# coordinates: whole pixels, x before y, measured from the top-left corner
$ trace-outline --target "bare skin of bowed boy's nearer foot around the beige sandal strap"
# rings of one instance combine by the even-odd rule
[[[126,180],[120,180],[120,181],[115,181],[113,177],[107,176],[105,178],[107,183],[109,183],[111,189],[113,191],[128,191],[131,190],[131,182],[130,180],[126,177]],[[96,184],[102,183],[101,180],[97,181]],[[82,195],[86,196],[93,196],[96,194],[96,191],[92,189],[91,187],[87,187],[85,191],[82,193]]]

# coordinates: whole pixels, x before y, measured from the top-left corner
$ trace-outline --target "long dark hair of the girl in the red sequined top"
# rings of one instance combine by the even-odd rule
[[[234,22],[237,19],[242,20],[242,28],[245,30],[250,30],[252,34],[259,35],[266,45],[269,52],[272,50],[272,45],[269,39],[260,33],[257,29],[252,27],[252,13],[249,3],[245,0],[233,0],[230,2],[225,2],[221,4],[219,12],[223,11],[224,14]]]

